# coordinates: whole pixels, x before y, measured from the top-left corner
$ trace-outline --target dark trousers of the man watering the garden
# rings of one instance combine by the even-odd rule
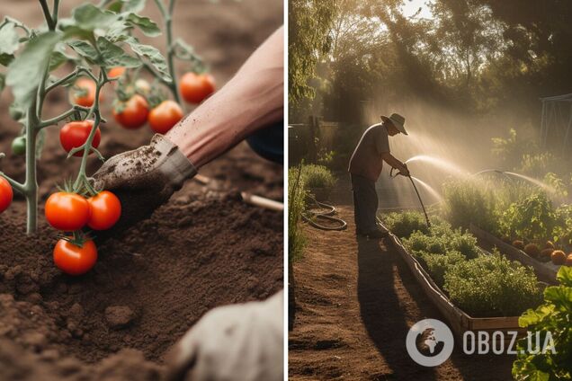
[[[375,219],[378,211],[378,194],[375,191],[375,182],[357,174],[351,174],[351,176],[356,233],[371,233],[378,228]]]

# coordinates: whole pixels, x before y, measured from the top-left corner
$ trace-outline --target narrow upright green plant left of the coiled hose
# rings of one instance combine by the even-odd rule
[[[302,256],[306,246],[306,237],[301,226],[302,212],[304,211],[305,199],[308,190],[304,177],[300,174],[299,167],[288,170],[288,259],[296,261]],[[302,170],[303,171],[303,170]]]

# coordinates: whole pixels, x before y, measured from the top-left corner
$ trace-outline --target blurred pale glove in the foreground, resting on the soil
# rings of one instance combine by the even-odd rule
[[[211,310],[174,345],[167,379],[282,380],[283,299],[280,291],[264,302]]]

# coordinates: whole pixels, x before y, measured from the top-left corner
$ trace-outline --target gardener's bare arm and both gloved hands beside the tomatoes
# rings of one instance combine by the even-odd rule
[[[256,152],[282,163],[282,38],[280,28],[165,137],[113,156],[94,174],[96,188],[121,199],[113,235],[149,217],[201,166],[246,137]],[[167,363],[171,377],[282,380],[282,315],[282,291],[264,302],[215,308],[175,345]]]

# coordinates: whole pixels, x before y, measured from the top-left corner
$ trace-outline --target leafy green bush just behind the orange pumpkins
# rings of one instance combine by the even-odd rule
[[[545,193],[535,192],[510,205],[500,217],[499,230],[509,237],[535,242],[554,239],[557,215]]]

